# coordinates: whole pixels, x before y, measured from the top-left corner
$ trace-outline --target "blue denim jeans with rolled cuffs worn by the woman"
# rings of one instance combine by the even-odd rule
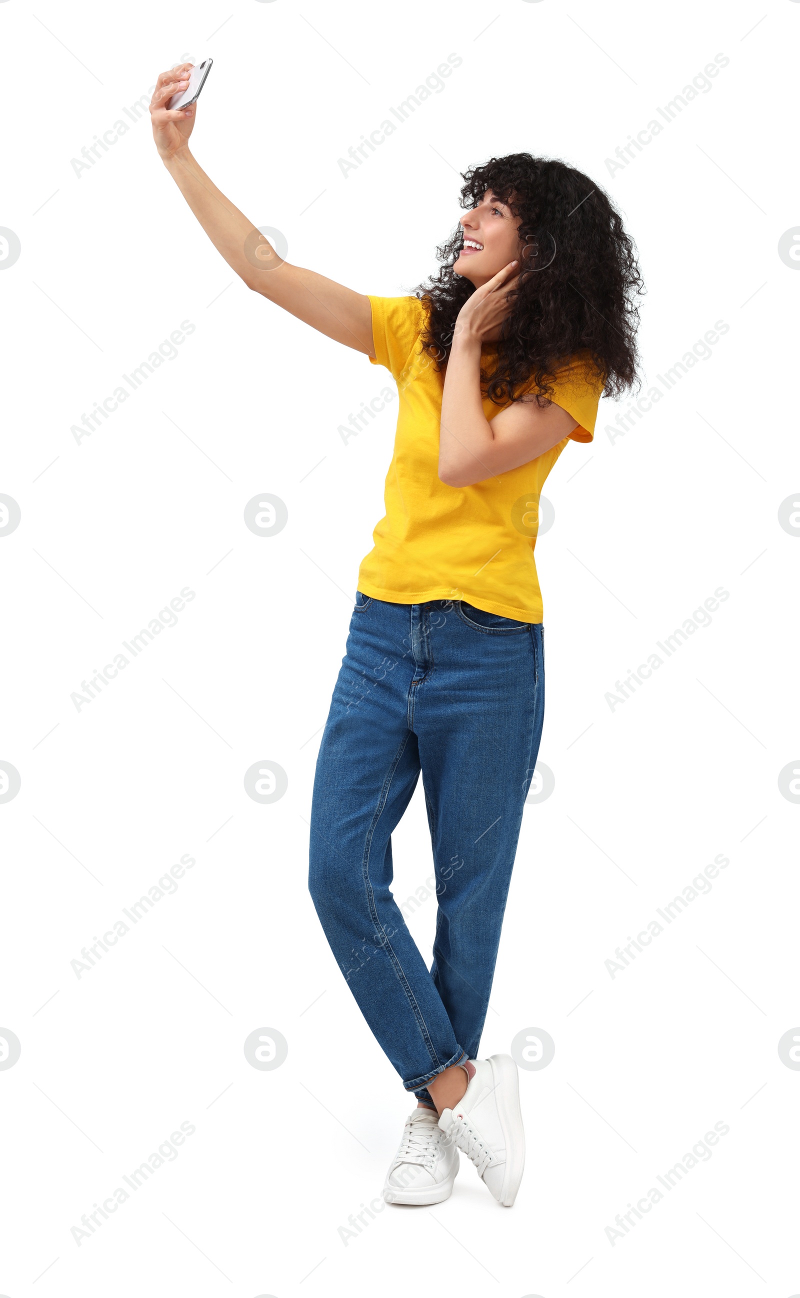
[[[357,593],[317,759],[309,888],[361,1012],[427,1105],[426,1083],[478,1053],[543,719],[542,623]],[[391,893],[391,833],[419,772],[430,972]]]

